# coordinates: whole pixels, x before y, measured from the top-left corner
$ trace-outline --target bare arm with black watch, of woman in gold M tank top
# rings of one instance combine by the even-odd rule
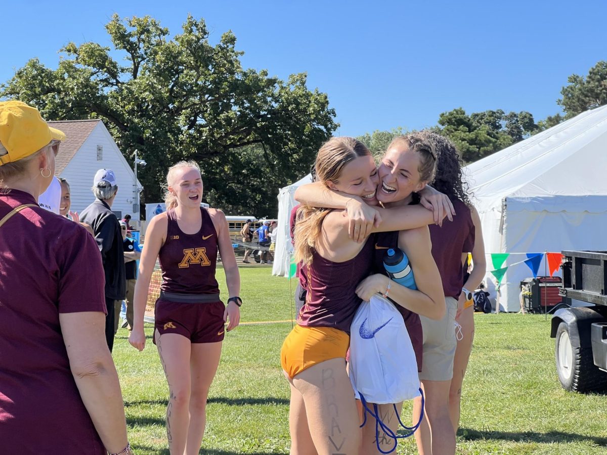
[[[217,248],[219,248],[219,255],[222,257],[229,297],[240,297],[240,273],[236,263],[236,255],[234,255],[234,248],[232,248],[232,240],[229,237],[228,221],[225,214],[220,210],[209,209],[209,215],[211,215],[215,232],[217,232]],[[229,323],[226,331],[229,332],[240,323],[240,308],[234,302],[229,302],[223,313],[223,320],[228,319]]]

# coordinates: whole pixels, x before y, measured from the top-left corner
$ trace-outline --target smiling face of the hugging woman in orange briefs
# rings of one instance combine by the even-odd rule
[[[369,205],[377,205],[378,170],[371,155],[356,157],[342,169],[337,181],[327,181],[333,190],[360,196]]]

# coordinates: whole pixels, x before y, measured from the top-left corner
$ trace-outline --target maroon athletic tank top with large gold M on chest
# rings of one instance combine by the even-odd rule
[[[219,294],[215,280],[217,232],[206,209],[200,207],[202,226],[196,234],[185,234],[177,224],[174,209],[166,212],[166,241],[158,260],[164,292],[178,294]]]

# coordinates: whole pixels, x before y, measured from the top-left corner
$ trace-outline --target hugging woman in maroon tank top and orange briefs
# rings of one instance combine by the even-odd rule
[[[360,141],[327,141],[316,157],[316,175],[330,189],[377,203],[377,169]],[[432,212],[421,206],[380,212],[383,221],[374,231],[398,231],[433,221]],[[341,210],[302,206],[297,213],[296,260],[303,261],[300,274],[305,276],[307,295],[280,354],[291,384],[293,454],[359,453],[359,417],[345,355],[350,325],[361,302],[354,290],[370,272],[377,245],[368,239],[363,243],[352,240],[348,223]],[[432,307],[429,314],[442,317],[444,301],[417,294]]]

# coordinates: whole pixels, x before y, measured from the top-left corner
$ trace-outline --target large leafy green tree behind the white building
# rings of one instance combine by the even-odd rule
[[[212,45],[203,19],[188,16],[172,38],[149,16],[114,15],[106,30],[113,49],[70,42],[56,70],[32,59],[0,97],[33,104],[47,120],[104,120],[127,159],[137,149],[147,161],[145,200],[161,198],[171,164],[195,160],[212,206],[275,215],[279,187],[307,172],[338,126],[305,73],[282,81],[243,69],[236,37],[226,32]]]

